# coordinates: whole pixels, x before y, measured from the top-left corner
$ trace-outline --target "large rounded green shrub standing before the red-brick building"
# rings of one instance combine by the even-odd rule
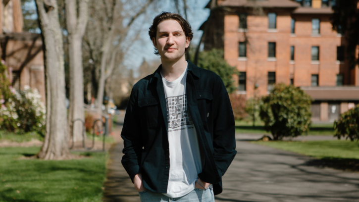
[[[259,116],[274,140],[308,134],[311,98],[292,85],[277,84],[262,98]]]

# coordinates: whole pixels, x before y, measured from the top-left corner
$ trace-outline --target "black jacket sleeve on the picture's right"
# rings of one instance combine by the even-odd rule
[[[227,171],[236,155],[235,122],[227,90],[217,76],[213,95],[213,158],[220,177]]]

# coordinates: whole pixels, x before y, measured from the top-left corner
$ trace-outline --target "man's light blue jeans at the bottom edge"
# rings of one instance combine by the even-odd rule
[[[211,188],[195,189],[183,197],[170,198],[150,190],[139,192],[141,202],[214,202]]]

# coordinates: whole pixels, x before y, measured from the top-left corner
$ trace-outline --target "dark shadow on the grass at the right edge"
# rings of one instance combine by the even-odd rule
[[[356,158],[321,158],[311,159],[305,165],[315,167],[329,167],[339,170],[359,171],[359,159]]]

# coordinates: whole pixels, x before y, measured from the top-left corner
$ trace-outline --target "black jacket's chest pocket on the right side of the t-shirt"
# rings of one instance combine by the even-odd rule
[[[206,121],[209,116],[212,116],[212,100],[213,94],[210,91],[197,91],[197,105],[200,110],[202,121]]]

